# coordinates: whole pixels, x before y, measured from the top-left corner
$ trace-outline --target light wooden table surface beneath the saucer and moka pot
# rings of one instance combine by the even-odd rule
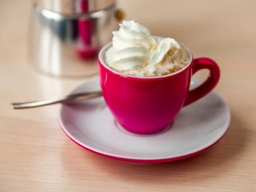
[[[221,68],[226,136],[188,159],[150,166],[85,151],[58,125],[59,105],[15,111],[10,102],[67,93],[83,79],[35,72],[27,60],[31,0],[0,1],[0,192],[256,191],[256,1],[119,0],[126,20],[186,44]],[[196,78],[204,79],[207,72]]]

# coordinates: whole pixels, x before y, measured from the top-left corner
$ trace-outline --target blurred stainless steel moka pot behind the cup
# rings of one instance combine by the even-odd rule
[[[32,64],[53,76],[98,72],[99,49],[118,30],[115,0],[35,0],[29,26]]]

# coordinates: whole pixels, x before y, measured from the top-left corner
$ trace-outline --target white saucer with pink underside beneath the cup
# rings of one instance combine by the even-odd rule
[[[192,81],[191,88],[198,86]],[[70,93],[100,90],[95,76]],[[230,111],[221,96],[212,91],[183,108],[173,125],[154,135],[138,135],[117,125],[103,97],[61,105],[59,123],[76,144],[116,160],[160,163],[198,154],[217,143],[230,125]]]

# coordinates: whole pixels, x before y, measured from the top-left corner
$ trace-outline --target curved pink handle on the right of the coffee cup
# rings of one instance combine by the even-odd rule
[[[220,79],[220,69],[218,65],[209,58],[196,58],[192,66],[192,75],[201,69],[210,70],[208,79],[194,90],[190,90],[186,96],[183,107],[189,105],[209,93]]]

